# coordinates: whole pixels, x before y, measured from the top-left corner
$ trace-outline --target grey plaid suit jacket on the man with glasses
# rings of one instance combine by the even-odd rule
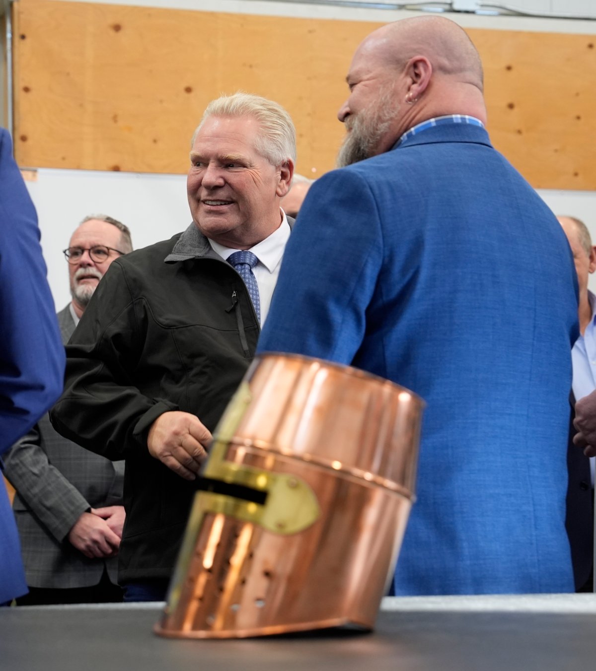
[[[66,306],[58,313],[62,342],[74,321]],[[13,511],[31,587],[89,587],[104,566],[113,583],[117,557],[89,559],[70,545],[68,531],[90,508],[122,505],[124,462],[87,452],[56,433],[48,415],[5,456],[5,476],[17,494]]]

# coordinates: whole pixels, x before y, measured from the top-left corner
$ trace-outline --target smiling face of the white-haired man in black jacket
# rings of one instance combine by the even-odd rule
[[[272,166],[255,149],[254,117],[207,117],[195,136],[187,193],[193,221],[207,238],[249,249],[281,223],[279,203],[292,166]]]

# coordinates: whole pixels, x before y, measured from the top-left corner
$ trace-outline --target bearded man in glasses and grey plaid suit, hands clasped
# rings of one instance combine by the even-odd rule
[[[128,227],[91,215],[70,238],[72,301],[58,313],[62,342],[74,331],[109,264],[132,251]],[[18,605],[121,601],[123,462],[111,462],[56,433],[48,415],[5,458],[30,593]]]

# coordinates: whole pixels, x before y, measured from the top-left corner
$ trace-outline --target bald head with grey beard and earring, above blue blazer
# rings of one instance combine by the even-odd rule
[[[387,23],[356,49],[340,166],[388,151],[417,123],[449,114],[486,122],[480,56],[457,23],[418,16]]]

